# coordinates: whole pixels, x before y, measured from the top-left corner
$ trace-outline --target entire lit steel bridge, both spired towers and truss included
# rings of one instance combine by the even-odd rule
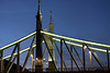
[[[76,51],[79,60],[81,61],[81,63],[84,65],[84,71],[86,71],[85,48],[88,48],[89,51],[91,51],[91,53],[90,53],[90,65],[91,65],[91,69],[92,69],[91,54],[94,56],[94,58],[96,59],[96,61],[98,62],[98,64],[102,69],[103,68],[106,69],[105,64],[101,62],[101,60],[99,59],[99,57],[96,54],[96,52],[94,50],[107,52],[108,70],[109,70],[109,52],[110,51],[108,49],[110,49],[110,45],[103,45],[103,44],[98,44],[98,42],[92,42],[92,41],[87,41],[87,40],[81,40],[81,39],[76,39],[76,38],[70,38],[70,37],[66,37],[66,36],[61,36],[61,35],[53,34],[54,33],[54,25],[53,25],[53,22],[52,22],[52,12],[51,12],[51,22],[50,22],[50,25],[48,25],[50,26],[50,28],[48,28],[50,33],[42,31],[42,15],[41,15],[40,2],[41,2],[41,0],[38,0],[38,11],[37,11],[37,15],[36,15],[36,32],[34,32],[34,33],[32,33],[32,34],[30,34],[30,35],[28,35],[28,36],[25,36],[25,37],[16,40],[16,41],[13,41],[13,42],[11,42],[11,44],[9,44],[9,45],[0,48],[0,54],[1,54],[0,56],[0,66],[1,66],[0,68],[1,69],[0,72],[1,73],[3,73],[3,60],[8,59],[8,58],[10,58],[10,60],[9,60],[9,63],[8,63],[8,66],[7,66],[7,68],[9,68],[7,73],[10,72],[10,69],[12,68],[12,64],[13,64],[15,58],[16,58],[16,72],[20,73],[20,54],[22,52],[28,51],[28,50],[29,50],[29,53],[28,53],[26,59],[24,61],[22,72],[24,71],[24,68],[26,65],[26,62],[28,62],[28,60],[30,58],[31,52],[33,54],[33,57],[32,57],[32,70],[34,69],[34,60],[35,60],[35,72],[43,72],[43,57],[44,57],[44,54],[46,52],[46,49],[48,50],[48,53],[50,53],[48,60],[52,60],[52,62],[53,62],[56,71],[58,71],[57,65],[55,63],[55,57],[54,57],[54,45],[53,45],[54,40],[61,41],[61,52],[59,52],[58,47],[56,45],[56,49],[57,49],[57,51],[58,51],[58,53],[61,56],[61,68],[62,68],[61,71],[63,71],[63,69],[64,69],[63,66],[64,65],[66,68],[66,64],[65,64],[65,62],[63,60],[63,42],[65,44],[65,46],[66,46],[66,48],[67,48],[67,50],[68,50],[68,52],[70,54],[72,70],[73,70],[73,60],[74,60],[76,66],[80,71],[80,68],[79,68],[77,61],[75,60],[75,58],[73,56],[73,47],[74,46],[78,46],[78,47],[82,48],[82,60],[84,60],[84,62],[80,59],[80,57],[79,57],[78,52],[76,51],[75,47],[74,47],[74,50]],[[23,40],[25,40],[25,39],[28,39],[28,38],[30,38],[30,37],[32,37],[32,36],[34,36],[34,39],[32,40],[31,47],[20,51],[20,42],[23,41]],[[46,39],[46,37],[47,37],[47,39]],[[59,39],[53,38],[53,37],[58,37]],[[46,48],[45,48],[44,53],[42,56],[42,39],[43,38],[44,38]],[[50,38],[53,38],[53,40],[51,41]],[[36,39],[36,45],[37,46],[34,45],[35,39]],[[74,44],[74,42],[70,42],[70,41],[65,41],[64,39],[72,40],[72,41],[77,41],[77,42],[80,42],[82,45],[80,45],[80,44]],[[70,45],[70,50],[69,50],[67,44]],[[16,49],[16,46],[15,46],[12,54],[3,58],[3,50],[7,49],[7,48],[9,48],[9,47],[11,47],[11,46],[14,46],[14,45],[18,46],[18,52],[14,53],[14,51]],[[84,45],[86,45],[86,47]],[[100,48],[88,47],[87,45],[92,45],[92,46],[98,46],[98,47],[105,47],[105,48],[107,48],[107,50],[100,49]],[[34,59],[34,49],[33,48],[35,48],[35,47],[36,47],[36,49],[35,49],[36,51],[35,51],[35,59]],[[14,56],[14,59],[13,59],[11,65],[10,65],[10,62],[11,62],[11,59],[12,59],[13,56]],[[52,66],[50,66],[50,68],[52,68]],[[67,70],[67,68],[66,68],[66,70]]]

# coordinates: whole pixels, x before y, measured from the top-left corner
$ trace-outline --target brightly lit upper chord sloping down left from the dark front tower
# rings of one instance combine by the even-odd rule
[[[16,40],[16,41],[13,41],[13,42],[11,42],[11,44],[4,46],[4,47],[1,47],[0,50],[4,50],[4,49],[7,49],[7,48],[9,48],[9,47],[11,47],[11,46],[13,46],[13,45],[15,45],[15,44],[18,44],[18,42],[21,42],[21,41],[23,41],[23,40],[25,40],[25,39],[28,39],[28,38],[34,36],[35,34],[36,34],[36,32],[34,32],[34,33],[32,33],[32,34],[30,34],[30,35],[28,35],[28,36],[25,36],[25,37],[23,37],[23,38]]]

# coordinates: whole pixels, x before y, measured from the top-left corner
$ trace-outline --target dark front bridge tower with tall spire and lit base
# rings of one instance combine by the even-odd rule
[[[36,15],[36,51],[35,51],[35,72],[43,72],[43,54],[42,54],[42,15],[40,9],[38,0],[38,10]]]

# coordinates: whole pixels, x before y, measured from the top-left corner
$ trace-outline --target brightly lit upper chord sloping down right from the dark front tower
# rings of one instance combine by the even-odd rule
[[[86,40],[81,40],[81,39],[65,37],[65,36],[56,35],[56,34],[47,33],[47,32],[44,32],[44,31],[41,31],[41,33],[50,35],[50,36],[54,36],[54,37],[59,37],[59,38],[64,38],[64,39],[68,39],[68,40],[78,41],[78,42],[81,42],[81,44],[88,44],[88,45],[110,48],[110,45],[97,44],[97,42],[86,41]]]

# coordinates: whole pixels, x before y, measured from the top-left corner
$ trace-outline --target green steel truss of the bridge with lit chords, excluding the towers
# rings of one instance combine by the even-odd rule
[[[79,65],[78,65],[78,63],[77,63],[77,61],[75,60],[75,58],[74,58],[74,56],[73,56],[73,52],[69,50],[69,48],[68,48],[68,46],[67,45],[70,45],[70,46],[73,46],[72,47],[72,49],[74,48],[74,50],[75,50],[75,47],[74,46],[77,46],[77,47],[80,47],[80,48],[82,48],[84,50],[82,50],[82,60],[81,60],[81,58],[79,57],[79,54],[78,54],[78,51],[76,51],[76,53],[77,53],[77,56],[78,56],[78,58],[79,58],[79,60],[81,61],[81,63],[82,63],[82,65],[84,65],[84,70],[86,71],[86,65],[85,65],[85,48],[87,48],[90,52],[91,52],[91,54],[90,54],[90,58],[91,58],[91,56],[96,59],[96,61],[99,63],[99,65],[100,65],[100,68],[102,68],[103,70],[107,70],[107,68],[105,66],[105,64],[102,63],[102,61],[99,59],[99,57],[97,56],[97,53],[95,52],[95,50],[96,51],[101,51],[101,52],[106,52],[107,53],[107,58],[108,58],[108,64],[109,64],[109,49],[110,49],[110,45],[103,45],[103,44],[98,44],[98,42],[92,42],[92,41],[87,41],[87,40],[81,40],[81,39],[76,39],[76,38],[70,38],[70,37],[66,37],[66,36],[61,36],[61,35],[56,35],[56,34],[52,34],[52,33],[47,33],[47,32],[45,32],[45,31],[41,31],[41,34],[42,35],[47,35],[47,36],[53,36],[53,40],[54,40],[54,44],[55,44],[55,46],[56,46],[56,49],[57,49],[57,51],[58,51],[58,53],[59,53],[59,56],[61,56],[61,64],[62,64],[62,70],[61,71],[63,71],[63,68],[65,66],[65,69],[66,69],[66,71],[68,71],[67,70],[67,66],[66,66],[66,64],[65,64],[65,61],[63,60],[63,47],[61,47],[61,52],[59,52],[59,49],[58,49],[58,47],[57,47],[57,45],[56,45],[56,42],[55,41],[61,41],[61,46],[64,44],[65,46],[66,46],[66,48],[67,48],[67,50],[68,50],[68,52],[70,53],[70,57],[72,57],[72,62],[73,62],[73,60],[74,60],[74,62],[75,62],[75,64],[77,65],[77,68],[78,68],[78,70],[80,71],[80,68],[79,68]],[[29,57],[31,56],[31,52],[32,52],[32,49],[34,49],[35,47],[36,47],[36,45],[34,45],[34,41],[35,41],[35,37],[33,38],[33,41],[32,41],[32,44],[31,44],[31,47],[29,47],[29,48],[25,48],[25,49],[23,49],[23,50],[20,50],[20,47],[19,47],[19,45],[20,45],[20,42],[22,42],[22,41],[24,41],[25,39],[28,39],[28,38],[30,38],[30,37],[32,37],[32,36],[35,36],[36,35],[36,32],[33,32],[32,34],[30,34],[30,35],[28,35],[28,36],[25,36],[25,37],[23,37],[23,38],[21,38],[21,39],[19,39],[19,40],[15,40],[15,41],[13,41],[13,42],[11,42],[11,44],[9,44],[9,45],[7,45],[7,46],[3,46],[3,47],[1,47],[0,48],[0,54],[1,54],[1,57],[0,57],[0,61],[1,61],[1,72],[3,72],[3,64],[2,64],[2,62],[3,62],[3,60],[4,59],[9,59],[10,58],[10,61],[11,61],[11,58],[12,57],[14,57],[14,59],[16,58],[18,59],[18,61],[19,61],[19,56],[21,54],[21,53],[23,53],[23,52],[25,52],[25,51],[29,51],[29,53],[28,53],[28,56],[26,56],[26,59],[25,59],[25,63],[24,63],[24,65],[23,65],[23,70],[22,70],[22,72],[24,71],[24,68],[25,68],[25,64],[26,64],[26,62],[28,62],[28,60],[29,60]],[[44,36],[45,37],[45,36]],[[45,38],[43,39],[44,41],[45,41]],[[43,42],[44,42],[43,41]],[[73,42],[73,41],[76,41],[76,42]],[[63,44],[62,44],[63,42]],[[47,44],[47,42],[46,42]],[[96,47],[88,47],[88,45],[90,45],[90,46],[97,46],[97,47],[102,47],[102,48],[106,48],[106,49],[101,49],[101,48],[96,48]],[[8,49],[9,47],[12,47],[12,46],[16,46],[16,48],[18,48],[18,52],[12,52],[12,54],[10,54],[10,56],[7,56],[7,57],[4,57],[3,58],[3,51],[4,51],[4,49]],[[46,47],[47,48],[47,47]],[[46,51],[46,48],[45,48],[45,51]],[[15,48],[14,48],[15,49]],[[45,54],[45,51],[44,51],[44,54]],[[50,51],[50,50],[48,50]],[[19,53],[19,54],[18,54]],[[43,57],[44,57],[44,54],[43,54]],[[50,53],[51,54],[51,53]],[[53,59],[53,58],[52,58]],[[82,62],[84,61],[84,62]],[[14,61],[12,61],[12,63],[13,63]],[[54,61],[54,63],[55,63],[55,61]],[[18,62],[18,64],[19,64],[19,62]],[[63,64],[64,64],[64,66],[63,66]],[[11,66],[12,66],[12,64],[11,64]],[[8,72],[10,72],[10,69],[11,69],[11,66],[8,69]],[[55,66],[56,66],[56,63],[55,63]],[[90,59],[90,66],[92,68],[92,60]],[[19,66],[18,66],[19,68]],[[72,68],[73,68],[73,65],[72,65]],[[57,66],[56,66],[56,69],[57,69]],[[109,69],[109,65],[108,65],[108,69]],[[7,73],[8,73],[7,72]]]

